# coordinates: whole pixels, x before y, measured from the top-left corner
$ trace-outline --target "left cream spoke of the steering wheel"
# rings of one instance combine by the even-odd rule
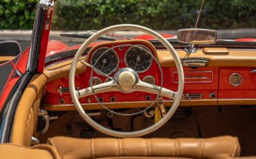
[[[88,88],[81,89],[79,91],[76,91],[75,94],[78,98],[81,98],[93,95],[93,91],[95,94],[98,94],[111,91],[118,91],[118,88],[116,87],[116,84],[113,83],[113,80],[111,80],[110,82],[105,82],[102,84],[89,86]]]

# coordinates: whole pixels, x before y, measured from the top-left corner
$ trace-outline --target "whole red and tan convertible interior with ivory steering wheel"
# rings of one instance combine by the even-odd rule
[[[116,30],[145,35],[107,35]],[[133,24],[85,39],[48,41],[44,70],[24,89],[0,156],[256,156],[255,43],[199,28],[160,35]]]

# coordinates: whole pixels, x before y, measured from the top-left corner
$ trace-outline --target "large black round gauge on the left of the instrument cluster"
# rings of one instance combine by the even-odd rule
[[[91,57],[91,64],[103,73],[110,75],[118,68],[119,59],[114,50],[108,49],[109,48],[98,48],[95,50]],[[106,52],[106,50],[108,51]],[[95,62],[97,63],[95,64]]]

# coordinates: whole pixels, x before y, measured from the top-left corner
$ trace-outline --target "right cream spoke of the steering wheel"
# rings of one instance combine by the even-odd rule
[[[176,97],[176,92],[171,91],[167,88],[161,88],[160,86],[156,86],[154,84],[148,84],[143,81],[139,81],[138,84],[136,84],[136,88],[134,91],[141,91],[141,92],[146,92],[146,93],[153,93],[158,95],[158,93],[161,91],[159,95],[163,97],[168,97],[171,100],[175,100]]]

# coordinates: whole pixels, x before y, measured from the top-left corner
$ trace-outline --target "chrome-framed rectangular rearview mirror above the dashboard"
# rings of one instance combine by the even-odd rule
[[[214,44],[217,31],[199,28],[181,29],[177,32],[177,39],[185,44]]]

